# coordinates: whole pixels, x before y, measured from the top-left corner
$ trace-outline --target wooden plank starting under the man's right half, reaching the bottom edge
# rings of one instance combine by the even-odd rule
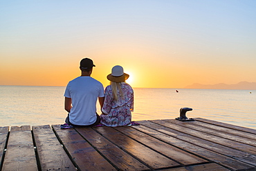
[[[118,170],[149,170],[149,168],[140,163],[134,157],[127,154],[116,145],[102,137],[102,135],[95,132],[92,128],[75,128],[77,132],[82,134],[82,137],[93,144],[93,147],[98,150],[109,162],[116,165]]]

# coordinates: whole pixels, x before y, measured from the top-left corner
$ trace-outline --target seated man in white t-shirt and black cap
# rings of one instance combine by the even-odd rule
[[[97,99],[100,108],[104,103],[104,88],[100,81],[91,77],[93,61],[84,58],[80,61],[81,76],[69,81],[64,93],[65,110],[68,112],[66,123],[73,126],[91,127],[100,123],[96,113]]]

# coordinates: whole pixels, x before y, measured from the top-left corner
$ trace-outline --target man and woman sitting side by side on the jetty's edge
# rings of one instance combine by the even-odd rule
[[[134,110],[134,90],[125,83],[129,74],[122,66],[114,66],[107,79],[111,81],[107,88],[93,79],[93,61],[84,58],[80,61],[81,76],[69,81],[64,93],[65,110],[68,117],[62,128],[93,127],[106,125],[111,127],[131,125],[131,111]],[[96,112],[97,99],[102,114]]]

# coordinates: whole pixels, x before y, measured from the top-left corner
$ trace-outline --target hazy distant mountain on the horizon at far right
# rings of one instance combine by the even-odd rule
[[[217,83],[214,85],[203,85],[200,83],[194,83],[185,88],[196,89],[230,89],[230,90],[256,90],[256,83],[249,83],[247,81],[241,81],[237,84]]]

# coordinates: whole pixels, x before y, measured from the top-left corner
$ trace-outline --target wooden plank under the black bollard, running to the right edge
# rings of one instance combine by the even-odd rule
[[[240,143],[246,143],[248,145],[256,146],[256,139],[254,140],[254,139],[248,139],[246,137],[238,136],[237,135],[237,134],[239,134],[238,130],[235,130],[235,132],[233,132],[234,134],[231,134],[229,130],[226,130],[226,132],[221,132],[221,131],[218,131],[218,130],[212,130],[210,128],[202,127],[201,125],[196,125],[196,123],[198,121],[183,122],[183,121],[178,121],[178,120],[175,120],[175,119],[168,119],[168,120],[164,119],[163,121],[167,121],[167,122],[170,122],[170,123],[181,125],[182,127],[185,127],[185,128],[191,128],[193,130],[198,130],[198,131],[201,131],[201,132],[205,132],[207,134],[213,134],[215,136],[219,136],[219,137],[222,137],[224,139],[230,139],[232,141],[237,141],[237,142],[240,142]],[[237,134],[236,134],[236,132],[237,132]],[[256,137],[256,134],[254,136]]]

